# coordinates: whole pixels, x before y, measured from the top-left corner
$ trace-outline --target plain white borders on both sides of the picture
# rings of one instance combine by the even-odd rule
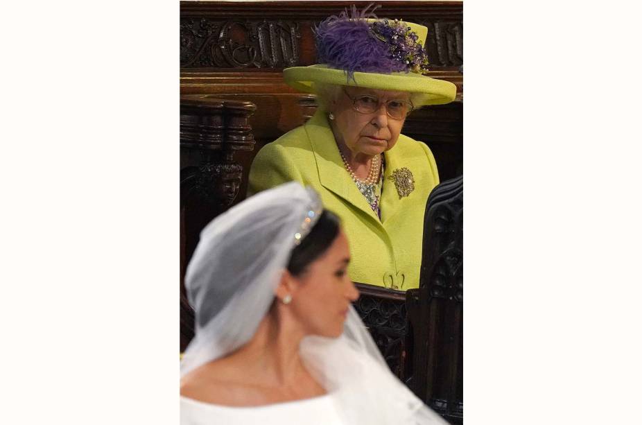
[[[466,3],[467,424],[639,421],[641,37],[617,4]],[[0,422],[177,424],[178,2],[16,5]]]

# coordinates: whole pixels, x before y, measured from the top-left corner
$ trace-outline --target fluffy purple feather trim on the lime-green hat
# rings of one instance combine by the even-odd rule
[[[370,4],[361,12],[352,6],[352,17],[347,10],[322,21],[315,29],[318,60],[329,67],[343,69],[349,79],[354,72],[391,73],[406,71],[408,66],[390,56],[390,45],[379,40],[368,24],[368,18],[376,19],[375,6]]]

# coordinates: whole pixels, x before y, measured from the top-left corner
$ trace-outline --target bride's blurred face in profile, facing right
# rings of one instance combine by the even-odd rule
[[[348,241],[340,231],[330,247],[297,279],[290,305],[309,335],[336,338],[343,332],[350,303],[359,291],[350,280]]]

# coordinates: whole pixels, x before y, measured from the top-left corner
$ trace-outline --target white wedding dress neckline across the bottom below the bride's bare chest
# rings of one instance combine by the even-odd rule
[[[348,425],[331,394],[257,407],[229,407],[180,397],[181,425]]]

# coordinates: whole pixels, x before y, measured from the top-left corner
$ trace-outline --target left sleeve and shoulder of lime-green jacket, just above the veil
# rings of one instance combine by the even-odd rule
[[[248,196],[293,180],[303,183],[301,173],[287,150],[278,144],[267,144],[259,150],[250,166]]]

